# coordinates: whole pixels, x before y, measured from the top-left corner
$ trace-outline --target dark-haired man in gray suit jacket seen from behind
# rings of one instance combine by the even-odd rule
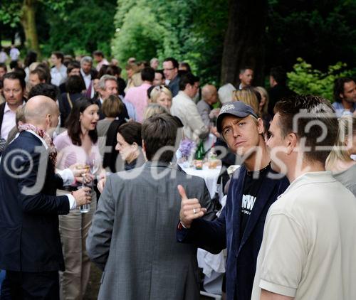
[[[214,213],[204,180],[170,164],[177,129],[169,114],[145,120],[147,163],[105,183],[86,243],[90,259],[104,271],[98,299],[199,299],[197,248],[176,241],[177,185],[201,199],[205,218]]]

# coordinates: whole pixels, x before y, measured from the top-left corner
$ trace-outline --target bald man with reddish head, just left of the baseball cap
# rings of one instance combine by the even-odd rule
[[[218,101],[216,87],[214,85],[204,85],[201,89],[201,100],[197,103],[197,107],[206,127],[209,127],[210,122],[216,119],[219,114],[219,109],[213,109],[213,105]]]

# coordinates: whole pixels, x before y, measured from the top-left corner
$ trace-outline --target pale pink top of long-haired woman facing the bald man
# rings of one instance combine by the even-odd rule
[[[75,163],[88,164],[91,167],[93,166],[93,159],[95,159],[95,164],[100,164],[101,166],[102,159],[98,143],[92,145],[90,154],[88,154],[83,147],[73,145],[66,131],[56,136],[53,144],[55,144],[58,151],[57,168],[60,170],[68,168]]]

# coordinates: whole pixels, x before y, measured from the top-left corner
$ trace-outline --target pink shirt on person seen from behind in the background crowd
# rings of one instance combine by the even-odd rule
[[[142,83],[140,87],[131,87],[127,90],[125,100],[131,102],[135,107],[136,121],[142,123],[143,113],[148,105],[147,90],[150,88],[150,84]]]

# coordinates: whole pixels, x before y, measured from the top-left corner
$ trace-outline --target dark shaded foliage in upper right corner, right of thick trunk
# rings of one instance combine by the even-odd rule
[[[342,60],[355,66],[355,0],[268,0],[266,67],[291,68],[302,57],[315,68]]]

